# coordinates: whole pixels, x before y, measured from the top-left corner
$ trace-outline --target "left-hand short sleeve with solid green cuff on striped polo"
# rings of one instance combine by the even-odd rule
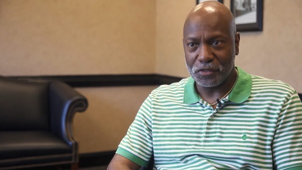
[[[140,106],[135,120],[119,144],[116,153],[140,166],[148,166],[153,154],[151,95]]]

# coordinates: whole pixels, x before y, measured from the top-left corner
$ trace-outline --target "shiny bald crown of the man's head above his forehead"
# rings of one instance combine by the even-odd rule
[[[209,22],[208,22],[209,21]],[[212,25],[214,28],[222,27],[230,31],[235,36],[236,25],[231,11],[222,3],[217,1],[205,1],[195,6],[188,14],[184,24],[184,37],[189,30],[188,26],[192,23],[200,26]]]

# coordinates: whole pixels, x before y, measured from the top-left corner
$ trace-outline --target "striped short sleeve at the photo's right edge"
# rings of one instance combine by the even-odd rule
[[[295,91],[281,109],[272,142],[272,156],[277,170],[302,169],[302,103]]]

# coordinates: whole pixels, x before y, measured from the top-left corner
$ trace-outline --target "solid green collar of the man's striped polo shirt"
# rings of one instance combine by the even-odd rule
[[[241,68],[237,67],[238,80],[235,87],[229,94],[229,101],[234,103],[242,103],[247,100],[251,94],[252,77]],[[184,88],[184,103],[193,104],[199,102],[199,95],[195,91],[195,81],[192,77],[189,78]]]

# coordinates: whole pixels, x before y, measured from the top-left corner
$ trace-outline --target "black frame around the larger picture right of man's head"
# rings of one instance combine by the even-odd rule
[[[231,0],[231,12],[233,13],[236,21],[236,8],[235,1],[242,2],[242,0]],[[248,0],[246,0],[248,1]],[[246,23],[246,24],[237,24],[237,31],[262,31],[263,27],[263,0],[256,0],[256,22]],[[238,4],[236,4],[238,5]]]

